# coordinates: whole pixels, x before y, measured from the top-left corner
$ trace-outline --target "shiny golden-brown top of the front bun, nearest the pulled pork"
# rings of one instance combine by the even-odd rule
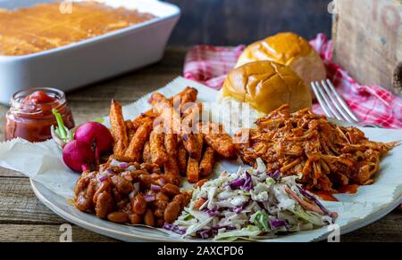
[[[291,111],[311,108],[307,85],[289,67],[273,61],[255,61],[232,69],[222,86],[222,99],[248,102],[268,114],[283,104]]]

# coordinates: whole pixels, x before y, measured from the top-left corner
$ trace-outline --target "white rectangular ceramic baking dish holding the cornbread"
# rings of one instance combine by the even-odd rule
[[[52,0],[0,0],[0,8],[16,9]],[[79,1],[75,1],[79,2]],[[0,102],[31,86],[69,91],[159,61],[180,18],[176,5],[156,0],[104,0],[113,7],[138,9],[157,18],[99,37],[24,56],[0,55]]]

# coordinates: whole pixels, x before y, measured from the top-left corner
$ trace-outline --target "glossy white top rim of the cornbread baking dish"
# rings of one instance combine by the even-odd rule
[[[70,45],[63,45],[54,49],[50,49],[50,50],[46,50],[43,52],[39,52],[39,53],[30,53],[27,55],[15,55],[15,56],[9,56],[9,55],[0,55],[0,61],[23,61],[23,60],[28,60],[28,59],[34,59],[34,58],[39,58],[39,57],[43,57],[43,56],[47,56],[50,54],[56,54],[56,53],[61,53],[67,50],[74,50],[74,49],[78,49],[84,45],[92,45],[92,44],[96,44],[98,42],[101,41],[105,41],[105,40],[109,40],[113,37],[121,37],[124,36],[125,34],[134,31],[134,30],[139,30],[142,28],[147,28],[150,27],[152,25],[155,25],[156,23],[160,23],[164,20],[170,20],[173,17],[177,17],[180,16],[180,8],[175,5],[175,4],[171,4],[171,3],[165,3],[165,2],[159,2],[156,0],[136,0],[138,1],[138,4],[159,4],[160,6],[167,7],[170,8],[172,10],[172,12],[168,15],[165,16],[156,16],[156,18],[151,19],[151,20],[147,20],[135,25],[132,25],[130,27],[127,28],[121,28],[109,33],[106,33],[104,35],[100,35],[97,37],[92,37],[92,38],[88,38],[85,40],[82,40],[80,42],[77,43],[72,43]],[[74,1],[74,2],[80,2],[80,1]],[[107,4],[107,1],[105,1],[105,4]],[[155,14],[154,14],[155,15]]]

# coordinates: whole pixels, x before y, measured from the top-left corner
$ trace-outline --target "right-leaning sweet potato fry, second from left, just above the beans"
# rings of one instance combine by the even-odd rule
[[[144,144],[147,142],[149,133],[152,129],[152,120],[144,122],[142,126],[139,126],[135,132],[133,138],[130,141],[129,147],[125,152],[125,156],[130,158],[132,162],[139,162],[141,158],[141,150]]]

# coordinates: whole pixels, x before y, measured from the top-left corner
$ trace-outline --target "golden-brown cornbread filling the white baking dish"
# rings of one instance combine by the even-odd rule
[[[96,2],[72,3],[71,12],[66,13],[61,12],[60,3],[0,10],[0,55],[40,53],[153,18],[149,13]]]

